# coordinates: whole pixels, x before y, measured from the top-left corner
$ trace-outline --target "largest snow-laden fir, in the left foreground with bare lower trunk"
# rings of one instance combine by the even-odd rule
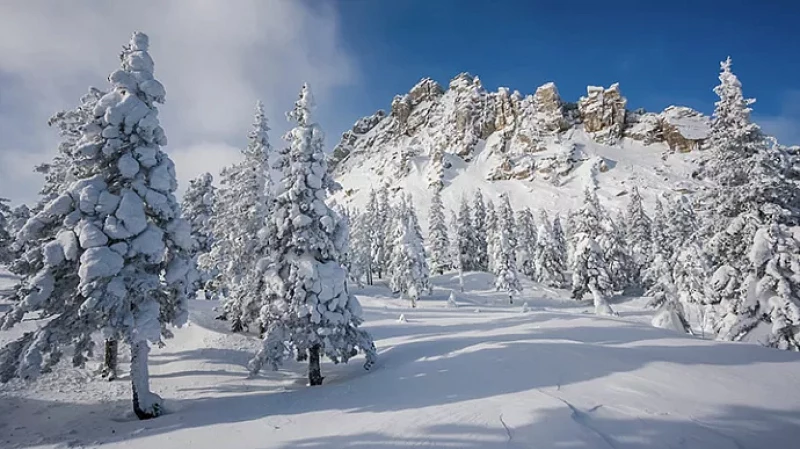
[[[149,387],[150,344],[171,335],[169,324],[185,323],[194,272],[175,167],[160,149],[167,140],[155,105],[165,90],[153,77],[148,47],[142,33],[123,47],[109,93],[64,160],[76,180],[19,233],[36,242],[23,258],[38,271],[23,277],[2,328],[29,312],[53,319],[0,353],[4,378],[33,378],[69,344],[73,363],[82,364],[92,333],[102,330],[131,348],[133,408],[141,419],[163,411]]]

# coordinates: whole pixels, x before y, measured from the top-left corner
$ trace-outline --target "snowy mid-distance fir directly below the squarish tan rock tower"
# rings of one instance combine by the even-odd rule
[[[597,242],[603,232],[601,220],[604,214],[597,194],[587,188],[583,206],[573,215],[572,297],[582,299],[590,292],[597,314],[613,313],[607,300],[614,292],[613,280],[606,267],[604,252]]]

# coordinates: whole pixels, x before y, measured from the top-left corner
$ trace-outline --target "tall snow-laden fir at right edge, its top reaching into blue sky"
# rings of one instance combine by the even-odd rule
[[[706,210],[700,233],[710,265],[706,302],[718,312],[714,317],[717,337],[743,339],[749,338],[746,334],[751,330],[764,328],[732,325],[754,316],[746,279],[757,267],[747,255],[752,253],[756,234],[772,221],[779,225],[800,222],[800,189],[789,176],[792,164],[785,148],[751,121],[754,101],[744,98],[730,58],[721,69],[705,164],[714,186],[702,198]],[[755,316],[770,321],[766,314]],[[781,337],[773,334],[770,338]]]

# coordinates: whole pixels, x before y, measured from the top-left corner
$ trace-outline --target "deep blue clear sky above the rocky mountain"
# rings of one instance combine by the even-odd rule
[[[724,7],[721,5],[724,3]],[[429,76],[477,74],[488,89],[532,93],[554,81],[574,101],[619,82],[631,108],[711,113],[730,55],[754,115],[800,144],[800,2],[339,0],[343,40],[361,66],[344,89],[367,112]],[[364,113],[366,114],[366,112]],[[359,115],[364,115],[359,114]]]

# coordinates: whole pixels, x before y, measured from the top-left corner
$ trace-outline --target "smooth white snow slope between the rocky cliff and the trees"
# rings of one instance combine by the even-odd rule
[[[487,177],[499,163],[497,154],[487,148],[491,144],[489,141],[478,145],[475,158],[469,163],[452,159],[453,166],[446,171],[442,190],[446,209],[457,210],[462,196],[471,202],[475,190],[481,189],[487,199],[495,202],[502,193],[507,193],[514,209],[544,208],[551,213],[561,213],[563,217],[567,211],[580,206],[587,186],[596,186],[600,200],[611,210],[625,207],[627,193],[633,186],[639,187],[647,208],[652,208],[658,195],[692,191],[698,187],[691,178],[692,171],[697,168],[698,153],[669,153],[662,144],[643,145],[631,139],[623,139],[614,146],[602,145],[581,129],[570,130],[560,142],[551,142],[547,151],[537,154],[537,157],[546,158],[573,146],[577,149],[579,161],[558,186],[539,178],[490,181]],[[427,231],[427,214],[433,194],[427,180],[431,159],[425,155],[416,156],[407,174],[387,176],[387,160],[392,160],[391,155],[399,153],[401,147],[384,147],[379,155],[363,157],[358,163],[341,168],[343,174],[337,181],[343,189],[334,200],[363,208],[370,189],[388,182],[391,189],[413,195],[423,231]],[[607,170],[596,169],[598,163]]]

